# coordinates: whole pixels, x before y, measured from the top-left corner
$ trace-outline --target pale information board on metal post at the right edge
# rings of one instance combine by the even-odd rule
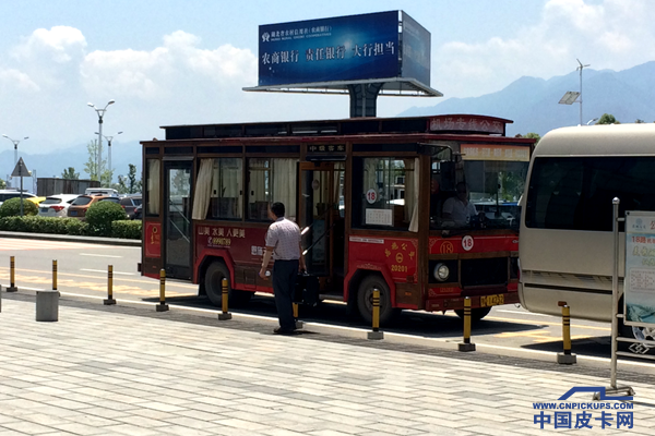
[[[655,325],[655,213],[626,211],[624,323]]]

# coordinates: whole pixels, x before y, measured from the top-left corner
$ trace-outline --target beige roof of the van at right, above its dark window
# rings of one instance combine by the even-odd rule
[[[655,124],[602,124],[548,132],[533,156],[655,155]]]

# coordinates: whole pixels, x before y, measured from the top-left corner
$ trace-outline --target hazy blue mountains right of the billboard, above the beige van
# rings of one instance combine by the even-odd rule
[[[655,61],[646,62],[623,71],[584,69],[583,119],[612,114],[621,123],[638,119],[655,120]],[[528,132],[546,134],[557,128],[580,124],[580,104],[560,105],[559,100],[569,92],[580,92],[580,71],[548,80],[521,77],[505,88],[480,97],[449,98],[430,107],[414,107],[400,113],[401,117],[477,113],[513,120],[508,125],[508,135]]]

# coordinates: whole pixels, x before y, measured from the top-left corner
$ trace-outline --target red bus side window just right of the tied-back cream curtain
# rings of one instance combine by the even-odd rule
[[[242,160],[240,158],[213,160],[210,218],[241,219]]]

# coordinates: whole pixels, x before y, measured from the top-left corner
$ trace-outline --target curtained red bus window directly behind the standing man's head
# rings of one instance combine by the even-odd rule
[[[282,202],[286,218],[296,220],[297,159],[248,160],[248,219],[267,220],[269,205]]]

